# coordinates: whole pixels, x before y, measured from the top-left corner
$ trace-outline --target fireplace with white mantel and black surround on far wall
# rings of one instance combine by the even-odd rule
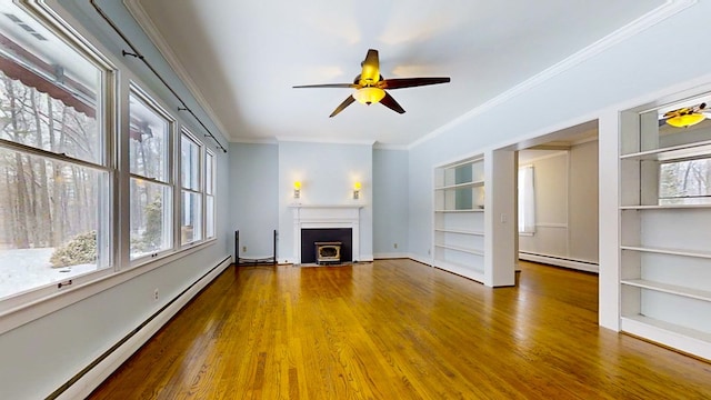
[[[360,209],[362,206],[294,204],[293,254],[294,263],[316,263],[319,242],[340,241],[340,261],[360,260]],[[321,231],[312,236],[313,232]]]

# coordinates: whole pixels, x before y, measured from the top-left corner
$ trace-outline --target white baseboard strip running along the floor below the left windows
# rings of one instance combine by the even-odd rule
[[[214,278],[217,278],[232,261],[232,258],[226,258],[217,268],[203,276],[194,282],[192,287],[173,299],[168,307],[154,314],[152,319],[140,328],[128,340],[116,348],[103,360],[93,366],[89,371],[81,376],[73,384],[61,392],[57,399],[84,399],[96,388],[101,384],[113,371],[116,371],[126,360],[129,359],[138,349],[141,348],[160,328],[162,328],[171,318],[173,318],[188,301],[190,301],[200,290],[204,289]]]

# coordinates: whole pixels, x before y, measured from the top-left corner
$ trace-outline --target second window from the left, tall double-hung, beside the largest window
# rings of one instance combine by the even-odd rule
[[[129,119],[133,260],[172,248],[172,120],[134,87],[129,96]]]

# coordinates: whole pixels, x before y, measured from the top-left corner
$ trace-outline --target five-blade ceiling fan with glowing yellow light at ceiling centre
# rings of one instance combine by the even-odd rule
[[[395,78],[384,79],[380,74],[380,61],[378,60],[378,50],[370,49],[365,54],[365,60],[360,63],[361,73],[353,79],[353,83],[324,83],[324,84],[303,84],[294,88],[351,88],[356,89],[351,96],[347,97],[343,102],[331,112],[330,117],[334,117],[344,108],[353,103],[356,100],[363,104],[372,104],[380,102],[387,108],[403,113],[404,109],[398,104],[395,99],[390,96],[387,89],[402,89],[419,86],[447,83],[449,78]]]

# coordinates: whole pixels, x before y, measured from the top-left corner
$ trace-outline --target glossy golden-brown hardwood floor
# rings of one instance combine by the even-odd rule
[[[501,289],[410,260],[230,267],[90,398],[711,398],[711,364],[597,309],[597,276],[533,263]]]

